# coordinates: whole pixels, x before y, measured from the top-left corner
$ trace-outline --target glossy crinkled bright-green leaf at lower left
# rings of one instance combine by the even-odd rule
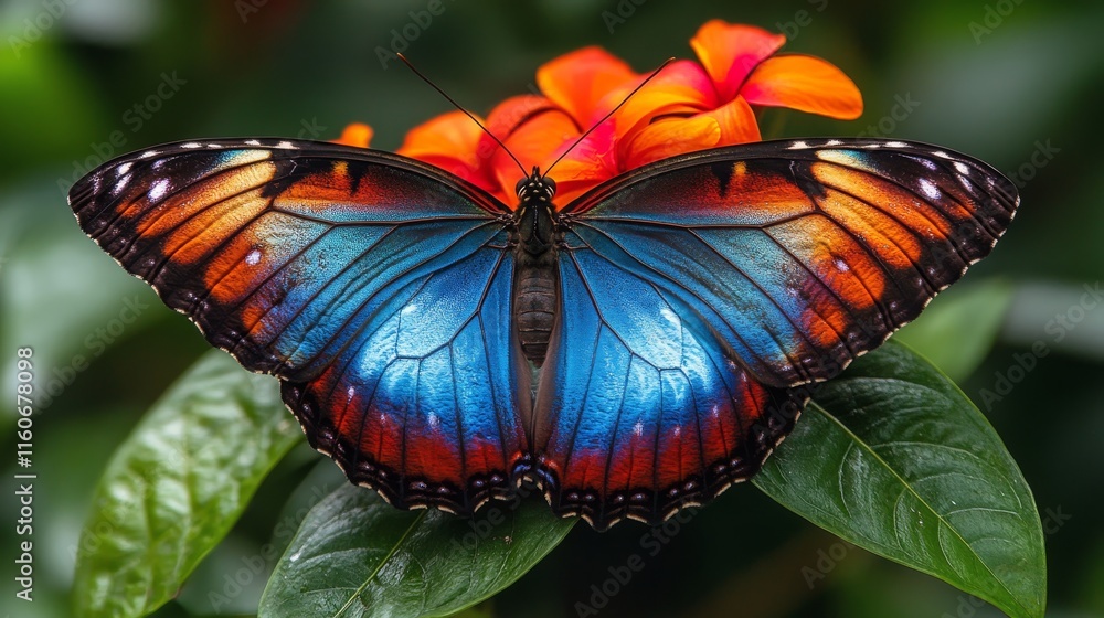
[[[77,614],[146,616],[171,599],[301,437],[275,380],[204,355],[99,480],[77,551]]]

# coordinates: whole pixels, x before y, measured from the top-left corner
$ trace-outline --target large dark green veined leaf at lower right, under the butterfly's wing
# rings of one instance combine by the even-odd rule
[[[889,342],[813,397],[754,478],[760,489],[1010,616],[1043,615],[1047,567],[1031,491],[954,383]]]

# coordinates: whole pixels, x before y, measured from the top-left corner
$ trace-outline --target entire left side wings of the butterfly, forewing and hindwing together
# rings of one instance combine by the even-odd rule
[[[211,343],[279,377],[352,481],[470,512],[527,472],[509,211],[482,191],[384,152],[227,140],[117,159],[70,202]]]

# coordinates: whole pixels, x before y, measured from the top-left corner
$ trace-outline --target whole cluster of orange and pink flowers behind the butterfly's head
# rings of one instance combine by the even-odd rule
[[[485,122],[524,172],[460,111],[414,128],[399,152],[464,178],[510,205],[517,202],[513,187],[523,173],[533,166],[546,172],[564,156],[554,178],[556,201],[565,204],[651,161],[761,139],[755,107],[840,119],[862,113],[858,88],[839,68],[813,56],[775,55],[785,42],[784,35],[756,26],[710,21],[690,40],[700,63],[667,66],[577,145],[644,76],[599,47],[555,58],[537,72],[543,96],[511,97]],[[346,136],[339,141],[350,142]]]

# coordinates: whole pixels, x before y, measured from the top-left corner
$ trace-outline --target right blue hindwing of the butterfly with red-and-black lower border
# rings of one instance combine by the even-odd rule
[[[754,475],[804,398],[751,379],[699,316],[569,233],[537,398],[553,510],[658,523]]]

